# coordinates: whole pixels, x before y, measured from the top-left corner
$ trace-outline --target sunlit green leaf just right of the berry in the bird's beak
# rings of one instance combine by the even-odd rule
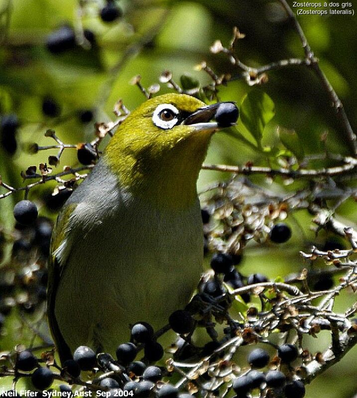
[[[264,127],[275,115],[272,99],[261,90],[252,90],[243,97],[239,112],[242,124],[260,147]]]

